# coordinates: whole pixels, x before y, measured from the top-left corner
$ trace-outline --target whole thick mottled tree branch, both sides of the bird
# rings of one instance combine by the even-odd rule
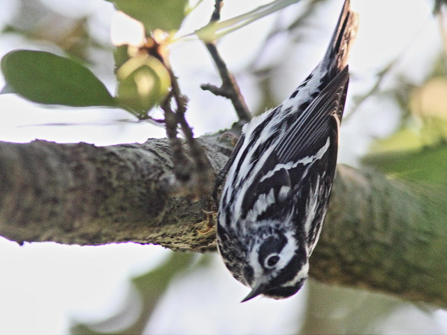
[[[224,138],[200,138],[215,172],[230,154]],[[210,204],[169,197],[161,181],[171,168],[166,140],[110,147],[0,142],[0,234],[19,243],[214,250],[214,230],[198,232]],[[339,165],[311,275],[447,307],[444,202],[427,188]]]

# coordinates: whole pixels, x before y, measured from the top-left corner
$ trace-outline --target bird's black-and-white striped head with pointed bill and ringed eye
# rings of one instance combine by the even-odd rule
[[[274,232],[257,240],[247,255],[243,276],[251,292],[242,302],[258,295],[284,299],[294,295],[309,271],[307,251],[293,234]]]

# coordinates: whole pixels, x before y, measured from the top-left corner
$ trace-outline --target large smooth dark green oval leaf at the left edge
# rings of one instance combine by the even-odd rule
[[[15,50],[1,59],[6,87],[34,103],[74,107],[115,106],[115,99],[91,71],[77,61],[43,51]]]

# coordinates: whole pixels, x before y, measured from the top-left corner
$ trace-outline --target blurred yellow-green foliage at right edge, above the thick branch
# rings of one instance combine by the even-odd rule
[[[400,129],[376,140],[362,163],[390,177],[439,186],[438,191],[447,193],[446,92],[445,73],[439,75],[435,64],[432,77],[420,87],[411,87],[406,100],[401,99],[404,117]]]

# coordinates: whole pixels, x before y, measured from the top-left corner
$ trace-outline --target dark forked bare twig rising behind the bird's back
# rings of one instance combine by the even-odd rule
[[[222,4],[223,0],[216,0],[210,22],[216,22],[220,20],[220,11]],[[247,107],[247,103],[245,103],[244,97],[240,92],[240,88],[235,80],[235,77],[230,73],[225,64],[225,61],[223,61],[222,57],[217,51],[216,44],[214,42],[205,43],[205,46],[207,47],[208,52],[210,52],[214,64],[216,64],[217,70],[219,71],[219,75],[222,80],[222,84],[220,87],[212,84],[203,84],[200,87],[205,91],[210,91],[216,96],[223,96],[224,98],[230,99],[231,103],[233,103],[233,107],[235,107],[235,111],[239,120],[242,123],[250,121],[251,114],[249,112],[249,108]]]

